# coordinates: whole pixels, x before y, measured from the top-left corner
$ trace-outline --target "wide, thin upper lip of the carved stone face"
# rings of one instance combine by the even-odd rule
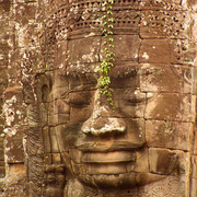
[[[112,151],[131,151],[142,148],[144,142],[132,143],[127,141],[114,141],[113,144],[96,144],[96,142],[84,142],[76,146],[82,152],[112,152]]]

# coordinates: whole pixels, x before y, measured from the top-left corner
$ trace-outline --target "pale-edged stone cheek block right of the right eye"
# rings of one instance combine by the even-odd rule
[[[179,93],[148,93],[147,119],[194,121],[194,96]],[[159,106],[159,107],[157,107]]]

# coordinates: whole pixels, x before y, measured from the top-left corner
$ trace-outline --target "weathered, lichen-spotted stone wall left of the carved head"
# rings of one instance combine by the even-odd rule
[[[0,196],[26,196],[22,59],[36,47],[36,7],[32,0],[0,1]]]

